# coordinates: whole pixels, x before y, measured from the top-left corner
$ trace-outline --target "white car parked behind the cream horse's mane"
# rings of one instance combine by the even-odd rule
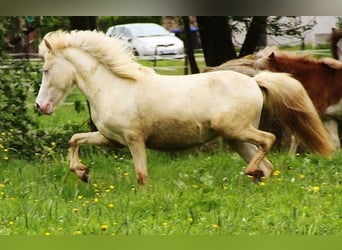
[[[108,28],[106,36],[127,41],[139,57],[183,58],[184,43],[155,23],[131,23]]]

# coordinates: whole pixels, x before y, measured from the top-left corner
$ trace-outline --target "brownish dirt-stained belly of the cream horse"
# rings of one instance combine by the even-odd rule
[[[209,122],[168,120],[155,122],[146,138],[146,146],[157,150],[184,150],[217,137]]]

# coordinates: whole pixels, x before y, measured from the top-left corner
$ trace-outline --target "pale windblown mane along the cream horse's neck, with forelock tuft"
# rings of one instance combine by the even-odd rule
[[[130,48],[117,38],[107,37],[98,31],[54,31],[46,34],[44,40],[51,44],[53,51],[69,47],[79,48],[107,66],[122,78],[138,79],[142,73],[153,70],[138,64]],[[44,42],[39,45],[39,54],[44,56],[48,48]]]

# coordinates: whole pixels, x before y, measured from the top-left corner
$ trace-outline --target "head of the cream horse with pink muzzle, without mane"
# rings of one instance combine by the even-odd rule
[[[74,67],[46,39],[39,50],[44,56],[44,65],[35,106],[41,113],[50,115],[74,85]]]

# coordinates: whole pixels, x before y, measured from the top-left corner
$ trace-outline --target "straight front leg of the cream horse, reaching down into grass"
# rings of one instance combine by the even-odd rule
[[[142,136],[133,133],[126,135],[125,140],[133,158],[138,184],[142,187],[148,177],[145,141]]]

